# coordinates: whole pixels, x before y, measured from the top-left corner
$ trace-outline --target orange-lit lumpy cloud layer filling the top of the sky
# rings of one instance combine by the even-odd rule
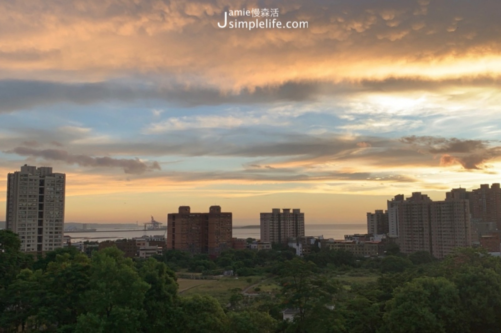
[[[309,27],[217,27],[225,11],[257,6],[274,6],[281,21],[308,21]],[[190,86],[252,91],[291,81],[499,74],[500,10],[497,0],[481,6],[456,0],[3,1],[0,26],[9,29],[0,35],[0,78],[95,82],[145,74],[156,80],[156,74]]]

